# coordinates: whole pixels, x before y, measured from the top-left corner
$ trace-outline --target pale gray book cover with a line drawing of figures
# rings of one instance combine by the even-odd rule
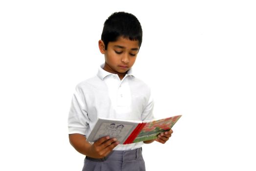
[[[141,122],[99,118],[87,141],[95,142],[101,137],[110,136],[123,144],[139,123]]]

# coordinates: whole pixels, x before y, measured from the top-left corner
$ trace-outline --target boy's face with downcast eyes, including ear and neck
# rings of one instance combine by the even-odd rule
[[[99,41],[99,49],[105,54],[104,70],[117,74],[122,79],[133,66],[139,52],[139,41],[131,41],[120,37],[116,42],[109,42],[105,50],[103,41]]]

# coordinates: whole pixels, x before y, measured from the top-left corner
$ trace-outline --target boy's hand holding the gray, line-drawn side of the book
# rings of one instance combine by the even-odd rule
[[[93,158],[106,157],[118,144],[116,138],[102,137],[92,144],[89,156]]]

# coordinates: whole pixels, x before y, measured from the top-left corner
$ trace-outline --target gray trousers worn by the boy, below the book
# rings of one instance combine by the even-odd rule
[[[86,156],[82,171],[145,171],[142,150],[113,150],[102,159]]]

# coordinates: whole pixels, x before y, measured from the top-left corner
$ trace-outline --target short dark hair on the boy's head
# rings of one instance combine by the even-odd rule
[[[120,36],[129,38],[131,41],[142,42],[142,28],[140,21],[130,13],[113,13],[105,22],[101,34],[101,40],[105,44],[105,49],[109,42],[115,42]]]

